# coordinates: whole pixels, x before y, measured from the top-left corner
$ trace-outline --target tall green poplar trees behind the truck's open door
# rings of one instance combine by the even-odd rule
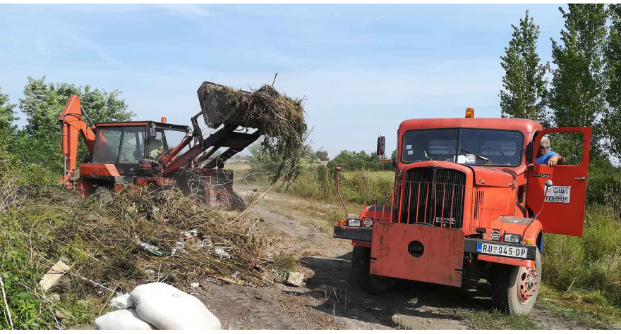
[[[543,120],[545,127],[591,127],[589,202],[603,202],[621,186],[621,6],[569,4],[560,41],[551,39],[553,66],[537,53],[539,26],[526,11],[501,66],[503,118]],[[577,142],[556,142],[557,152],[575,154]]]

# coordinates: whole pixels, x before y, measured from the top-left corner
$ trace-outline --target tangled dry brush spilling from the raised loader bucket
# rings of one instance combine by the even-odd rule
[[[300,175],[299,161],[303,156],[308,127],[304,120],[304,99],[280,94],[274,87],[263,85],[251,94],[226,89],[229,104],[243,111],[246,123],[258,123],[265,136],[263,153],[277,162],[272,182],[283,178],[289,186]]]

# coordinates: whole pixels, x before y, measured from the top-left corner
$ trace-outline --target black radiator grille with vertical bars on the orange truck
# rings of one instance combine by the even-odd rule
[[[403,223],[442,228],[464,225],[466,174],[448,168],[411,168],[403,189]]]

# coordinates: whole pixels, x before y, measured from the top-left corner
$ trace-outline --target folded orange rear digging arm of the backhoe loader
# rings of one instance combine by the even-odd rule
[[[63,155],[65,157],[65,169],[63,177],[59,182],[61,185],[65,185],[67,189],[73,188],[71,176],[76,171],[79,135],[82,135],[90,154],[95,149],[95,133],[92,132],[92,130],[95,130],[95,125],[93,125],[92,130],[88,128],[88,125],[83,120],[83,116],[88,118],[88,115],[83,111],[84,109],[80,106],[80,98],[76,95],[71,95],[65,105],[65,109],[63,109],[59,116],[59,124],[63,134]]]

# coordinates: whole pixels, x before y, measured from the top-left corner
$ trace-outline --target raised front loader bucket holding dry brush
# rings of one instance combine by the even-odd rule
[[[230,102],[228,94],[232,92],[243,92],[251,94],[241,89],[234,89],[205,81],[198,87],[198,101],[200,109],[205,118],[205,124],[213,129],[220,125],[239,125],[248,128],[259,128],[258,123],[246,119],[246,109],[236,108]]]

